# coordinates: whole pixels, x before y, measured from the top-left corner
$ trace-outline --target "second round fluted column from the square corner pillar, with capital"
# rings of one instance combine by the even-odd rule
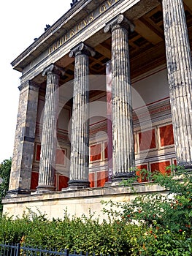
[[[93,49],[84,43],[73,48],[74,56],[74,93],[72,111],[71,166],[69,187],[74,189],[89,187],[89,56]]]

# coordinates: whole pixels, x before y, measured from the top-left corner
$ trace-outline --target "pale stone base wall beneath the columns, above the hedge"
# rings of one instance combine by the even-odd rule
[[[143,193],[152,192],[165,195],[167,193],[164,188],[159,187],[156,184],[134,184],[136,193],[133,194],[131,189],[127,187],[102,187],[95,189],[80,189],[76,191],[62,191],[62,192],[50,192],[45,194],[30,195],[26,197],[6,198],[4,203],[4,214],[8,214],[9,217],[22,217],[23,212],[28,212],[28,208],[33,212],[37,212],[40,209],[41,212],[46,213],[48,219],[64,218],[64,211],[67,209],[69,217],[82,217],[90,216],[94,213],[94,217],[102,219],[108,219],[107,214],[102,211],[103,205],[101,200],[115,202],[130,202],[138,195]]]

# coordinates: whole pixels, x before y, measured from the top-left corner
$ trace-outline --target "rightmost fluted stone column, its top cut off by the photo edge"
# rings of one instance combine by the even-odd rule
[[[192,63],[183,0],[163,0],[166,62],[177,164],[192,167]]]

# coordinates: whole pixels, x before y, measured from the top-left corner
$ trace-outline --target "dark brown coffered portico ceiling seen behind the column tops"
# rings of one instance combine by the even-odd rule
[[[192,1],[185,0],[185,17],[187,20],[188,34],[192,48]],[[128,12],[126,12],[128,18]],[[145,13],[142,17],[134,20],[135,31],[129,35],[130,68],[131,78],[158,67],[166,65],[166,53],[164,44],[164,23],[161,4],[154,7],[153,10]],[[111,59],[111,37],[104,39],[103,31],[95,34],[87,40],[96,50],[96,56],[90,58],[91,74],[105,74],[105,65]],[[97,39],[97,40],[96,40]],[[96,45],[96,42],[99,44]],[[66,57],[69,60],[69,57]],[[62,66],[63,59],[58,61]],[[71,80],[74,74],[74,64],[70,59],[67,67],[65,80]],[[66,63],[66,59],[64,59]]]

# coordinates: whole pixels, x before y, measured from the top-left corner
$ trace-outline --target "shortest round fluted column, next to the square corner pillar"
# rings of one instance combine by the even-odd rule
[[[41,154],[37,192],[55,190],[56,124],[58,115],[58,87],[61,69],[50,64],[42,75],[47,75],[45,108],[42,124]]]

